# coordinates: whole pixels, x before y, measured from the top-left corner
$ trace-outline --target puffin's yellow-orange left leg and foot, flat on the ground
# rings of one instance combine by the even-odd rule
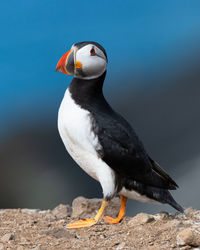
[[[91,227],[92,225],[96,224],[103,215],[104,209],[107,207],[109,201],[103,200],[101,207],[94,217],[94,219],[84,219],[84,220],[78,220],[75,222],[72,222],[70,224],[67,224],[67,228],[82,228],[82,227]]]

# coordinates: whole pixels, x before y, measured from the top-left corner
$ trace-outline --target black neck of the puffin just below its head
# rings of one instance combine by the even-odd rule
[[[74,101],[82,107],[98,103],[106,103],[103,96],[103,83],[105,76],[106,72],[100,77],[90,80],[73,78],[69,86],[69,91]]]

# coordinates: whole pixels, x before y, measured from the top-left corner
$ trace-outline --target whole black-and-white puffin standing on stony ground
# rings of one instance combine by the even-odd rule
[[[96,216],[69,223],[69,229],[95,225],[116,195],[121,207],[117,218],[104,217],[110,224],[124,218],[128,198],[166,203],[184,212],[169,191],[178,188],[176,182],[148,155],[131,125],[105,99],[107,63],[99,43],[84,41],[72,45],[56,66],[57,72],[74,75],[58,111],[60,137],[74,161],[103,191]]]

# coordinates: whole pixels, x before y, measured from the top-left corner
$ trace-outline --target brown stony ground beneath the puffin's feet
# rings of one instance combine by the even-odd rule
[[[1,249],[200,249],[200,211],[186,209],[185,215],[140,213],[110,225],[102,220],[88,229],[66,229],[66,224],[93,216],[101,200],[78,197],[53,210],[0,210]],[[116,215],[115,198],[106,211]]]

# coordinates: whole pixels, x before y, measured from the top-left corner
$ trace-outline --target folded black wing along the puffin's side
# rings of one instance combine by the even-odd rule
[[[112,116],[104,114],[95,120],[102,146],[101,158],[120,176],[153,187],[178,187],[147,155],[138,136],[123,117],[114,112]]]

